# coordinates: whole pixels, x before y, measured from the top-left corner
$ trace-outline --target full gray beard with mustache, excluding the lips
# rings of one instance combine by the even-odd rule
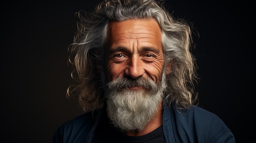
[[[132,86],[144,89],[129,90]],[[107,112],[115,127],[122,131],[143,130],[155,116],[166,89],[166,77],[155,84],[152,79],[117,78],[106,86]]]

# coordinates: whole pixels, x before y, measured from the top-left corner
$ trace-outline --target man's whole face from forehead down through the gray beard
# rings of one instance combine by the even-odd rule
[[[155,20],[111,22],[108,30],[108,117],[121,130],[144,130],[166,88],[161,30]]]

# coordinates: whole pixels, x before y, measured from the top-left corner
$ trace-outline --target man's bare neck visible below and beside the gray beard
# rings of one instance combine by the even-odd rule
[[[148,134],[152,132],[153,130],[157,129],[160,125],[163,124],[163,109],[162,104],[159,105],[159,108],[154,115],[154,117],[150,120],[148,125],[143,130],[132,130],[125,132],[128,136],[142,136],[144,134]]]

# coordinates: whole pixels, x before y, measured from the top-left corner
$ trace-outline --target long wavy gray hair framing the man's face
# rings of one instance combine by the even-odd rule
[[[153,18],[162,30],[165,64],[172,65],[171,73],[167,75],[164,104],[178,109],[196,106],[198,94],[194,85],[198,76],[191,53],[193,27],[168,13],[163,0],[104,0],[92,13],[81,10],[76,15],[79,18],[77,31],[68,51],[69,62],[74,68],[71,75],[77,83],[67,89],[67,97],[78,98],[84,112],[102,108],[104,103],[103,57],[108,24],[113,20],[129,19]]]

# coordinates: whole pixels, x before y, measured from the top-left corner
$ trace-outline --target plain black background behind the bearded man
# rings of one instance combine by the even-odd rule
[[[217,114],[237,143],[254,139],[253,4],[167,1],[169,12],[197,30],[199,106]],[[76,29],[74,13],[92,11],[97,2],[1,2],[2,143],[49,143],[59,125],[83,113],[66,98],[73,84],[67,47]]]

